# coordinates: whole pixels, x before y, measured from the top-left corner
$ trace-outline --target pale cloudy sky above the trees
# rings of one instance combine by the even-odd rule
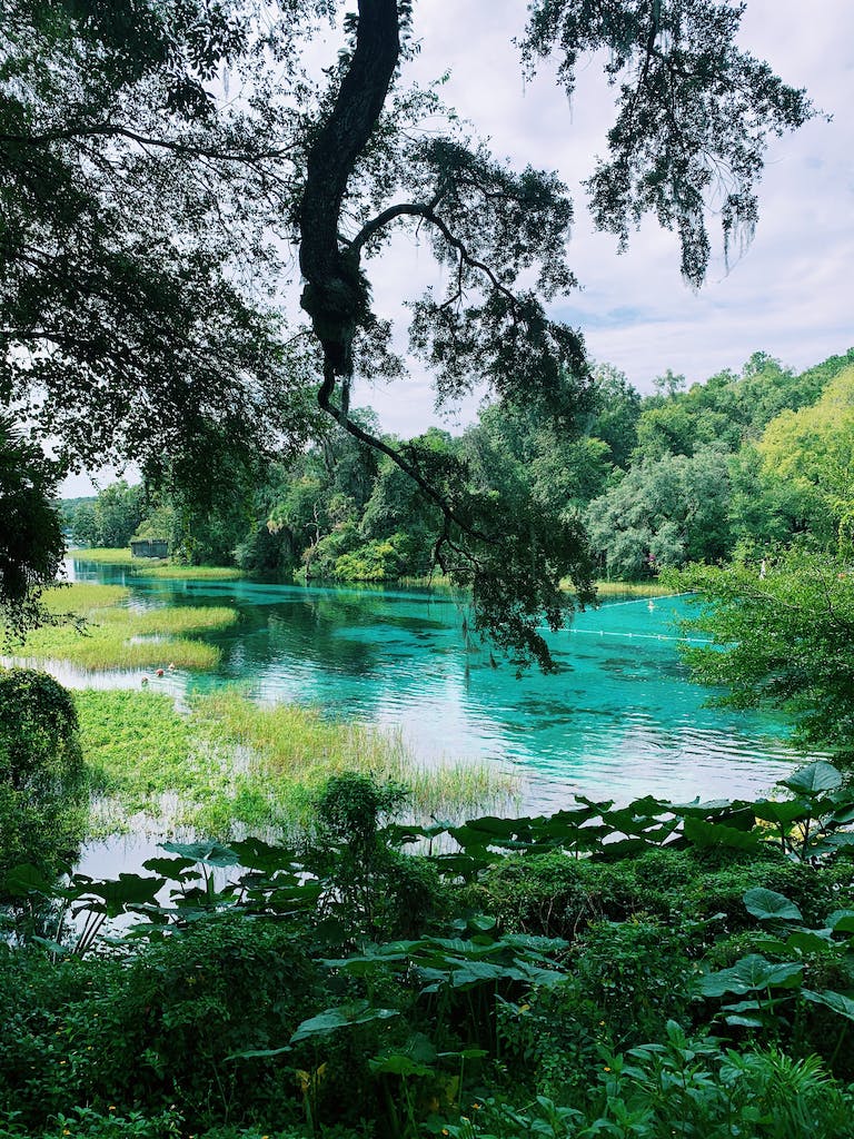
[[[596,62],[582,64],[572,105],[548,64],[525,82],[512,44],[525,7],[524,0],[417,0],[421,50],[410,68],[422,81],[450,71],[443,98],[490,140],[493,154],[517,166],[556,170],[570,187],[569,262],[581,288],[552,312],[581,329],[590,355],[615,364],[646,393],[667,368],[690,384],[725,368],[739,371],[755,351],[799,370],[853,346],[852,0],[747,0],[744,46],[786,82],[805,87],[832,121],[816,117],[772,140],[754,240],[729,268],[718,249],[699,290],[683,282],[678,243],[654,221],[622,255],[616,238],[594,231],[581,183],[605,151],[613,91]],[[322,43],[313,48],[323,50]],[[331,62],[337,42],[330,39],[326,50]],[[393,246],[381,272],[378,264],[369,268],[380,316],[399,309],[413,281],[441,280],[429,249],[411,240]],[[370,404],[383,427],[402,436],[433,423],[458,429],[477,409],[471,399],[455,416],[437,416],[429,377],[417,368],[391,387],[362,383],[354,403]],[[105,473],[98,482],[112,477]],[[69,480],[63,493],[91,493],[90,485]]]

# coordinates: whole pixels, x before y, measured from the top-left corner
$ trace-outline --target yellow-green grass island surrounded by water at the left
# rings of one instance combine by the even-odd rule
[[[82,669],[156,669],[166,662],[181,669],[212,669],[220,659],[213,645],[189,634],[228,629],[237,622],[225,606],[170,606],[133,609],[123,585],[85,582],[46,590],[54,614],[73,613],[85,622],[46,625],[27,634],[17,650],[27,661],[68,661]]]

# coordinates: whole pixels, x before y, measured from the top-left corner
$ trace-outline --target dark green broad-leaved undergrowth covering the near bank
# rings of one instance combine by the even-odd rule
[[[11,1134],[851,1136],[852,795],[828,764],[786,789],[419,828],[351,776],[299,847],[169,843],[145,876],[59,888],[22,870],[131,925],[0,960],[0,1112]],[[457,850],[401,854],[418,836]],[[550,893],[566,937],[508,928],[545,928]]]

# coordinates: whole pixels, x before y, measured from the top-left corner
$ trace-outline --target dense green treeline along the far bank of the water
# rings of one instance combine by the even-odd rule
[[[377,431],[370,411],[363,423]],[[556,526],[581,522],[608,577],[796,538],[836,548],[854,526],[854,349],[800,374],[757,352],[740,374],[690,387],[668,370],[647,396],[603,364],[580,433],[561,434],[533,408],[487,407],[462,435],[432,428],[411,442],[437,469],[463,462],[471,489],[508,515],[525,503]],[[285,576],[386,581],[432,567],[437,508],[343,433],[229,491],[200,511],[179,490],[120,482],[66,503],[66,521],[81,544],[167,538],[189,563]]]

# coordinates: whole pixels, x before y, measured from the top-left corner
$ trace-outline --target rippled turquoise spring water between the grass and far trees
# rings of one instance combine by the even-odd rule
[[[121,570],[84,563],[74,573],[123,580]],[[558,673],[516,679],[467,649],[460,608],[442,591],[138,576],[126,584],[136,604],[223,604],[240,614],[236,628],[206,638],[222,649],[216,671],[167,673],[153,688],[181,696],[240,683],[258,700],[401,727],[421,757],[512,767],[525,809],[556,810],[573,792],[754,795],[802,762],[783,723],[704,706],[709,691],[690,683],[676,653],[683,598],[606,601],[577,614],[569,630],[549,634]],[[137,685],[139,675],[96,682]]]

